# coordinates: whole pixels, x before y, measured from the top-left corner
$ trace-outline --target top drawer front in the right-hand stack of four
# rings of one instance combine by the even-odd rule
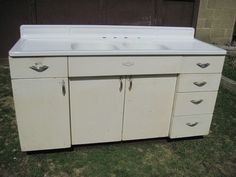
[[[224,56],[183,57],[181,73],[221,73]]]

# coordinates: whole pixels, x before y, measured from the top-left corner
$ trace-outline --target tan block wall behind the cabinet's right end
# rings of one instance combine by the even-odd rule
[[[215,44],[230,44],[236,19],[236,0],[201,0],[196,38]]]

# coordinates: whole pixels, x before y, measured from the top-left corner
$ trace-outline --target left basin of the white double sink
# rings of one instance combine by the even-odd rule
[[[81,42],[81,43],[72,43],[71,44],[72,50],[78,51],[107,51],[107,50],[115,50],[116,47],[109,43],[98,43],[98,42]]]

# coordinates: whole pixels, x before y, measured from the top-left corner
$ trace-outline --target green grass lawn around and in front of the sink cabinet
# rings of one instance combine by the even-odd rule
[[[9,69],[0,66],[0,176],[222,177],[236,176],[236,95],[220,88],[210,134],[20,151]]]

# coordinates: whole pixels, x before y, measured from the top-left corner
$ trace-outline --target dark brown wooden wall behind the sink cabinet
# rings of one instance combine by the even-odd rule
[[[0,0],[0,60],[22,24],[196,26],[199,0]]]

